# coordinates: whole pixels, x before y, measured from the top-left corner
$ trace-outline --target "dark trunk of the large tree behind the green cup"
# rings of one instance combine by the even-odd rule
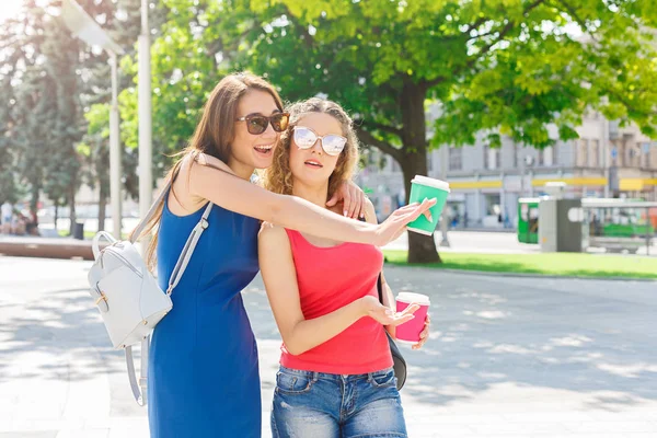
[[[407,80],[401,96],[403,155],[400,162],[404,174],[406,203],[411,196],[411,180],[427,175],[427,139],[425,99],[427,88]],[[408,263],[440,263],[433,235],[408,232]]]

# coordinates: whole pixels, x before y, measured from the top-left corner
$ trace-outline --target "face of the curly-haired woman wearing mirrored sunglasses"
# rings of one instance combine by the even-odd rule
[[[325,113],[309,113],[301,117],[297,126],[312,129],[318,136],[327,135],[343,136],[341,123]],[[328,177],[335,170],[338,155],[330,155],[323,149],[318,139],[310,149],[300,149],[293,138],[290,145],[290,171],[295,183],[316,186],[328,184]]]

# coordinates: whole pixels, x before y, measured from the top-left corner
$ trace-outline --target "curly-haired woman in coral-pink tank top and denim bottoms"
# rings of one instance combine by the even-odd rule
[[[325,207],[358,162],[351,119],[334,102],[289,107],[265,185]],[[339,207],[333,211],[341,215]],[[368,200],[366,219],[376,222]],[[321,220],[318,217],[318,220]],[[414,318],[395,313],[373,245],[337,242],[264,223],[258,254],[267,297],[284,344],[272,408],[274,437],[406,437],[385,327]],[[427,327],[416,347],[428,336]]]

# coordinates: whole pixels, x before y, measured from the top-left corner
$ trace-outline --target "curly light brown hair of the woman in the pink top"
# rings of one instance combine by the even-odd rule
[[[356,164],[358,163],[358,138],[354,131],[351,117],[337,103],[319,97],[293,103],[286,111],[290,113],[290,123],[286,131],[280,135],[280,140],[274,151],[274,162],[265,170],[265,188],[283,195],[292,194],[292,172],[290,171],[292,131],[304,115],[309,113],[324,113],[339,122],[342,134],[347,139],[345,148],[335,164],[335,170],[328,177],[328,194],[326,199],[330,199],[344,181],[351,180]]]

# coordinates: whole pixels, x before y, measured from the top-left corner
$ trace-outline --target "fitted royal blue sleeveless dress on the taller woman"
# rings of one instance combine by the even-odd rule
[[[158,241],[163,290],[204,210],[180,217],[165,201]],[[258,270],[260,223],[219,206],[208,222],[171,296],[173,309],[152,335],[151,438],[261,436],[257,346],[240,293]]]

